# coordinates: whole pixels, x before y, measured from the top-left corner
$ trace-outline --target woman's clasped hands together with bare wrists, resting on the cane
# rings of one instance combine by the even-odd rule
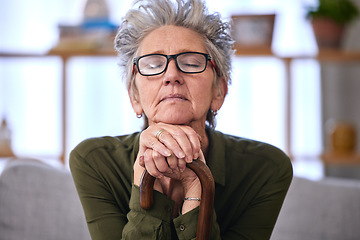
[[[186,163],[197,158],[205,161],[201,137],[191,127],[163,123],[149,126],[140,135],[134,184],[140,185],[146,168],[156,178],[154,189],[178,205],[184,197],[200,198],[200,181],[192,170],[186,168]]]

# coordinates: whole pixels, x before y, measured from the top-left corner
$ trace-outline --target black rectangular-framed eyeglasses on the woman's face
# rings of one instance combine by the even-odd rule
[[[183,52],[175,55],[155,53],[140,56],[134,58],[133,72],[136,66],[138,72],[143,76],[159,75],[166,71],[171,58],[175,60],[176,67],[183,73],[201,73],[205,71],[208,61],[210,61],[216,73],[218,73],[215,63],[211,60],[211,56],[199,52]]]

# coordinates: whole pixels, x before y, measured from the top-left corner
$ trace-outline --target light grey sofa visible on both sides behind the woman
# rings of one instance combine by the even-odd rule
[[[11,160],[0,175],[0,240],[88,240],[70,172]],[[271,240],[360,239],[360,181],[294,177]]]

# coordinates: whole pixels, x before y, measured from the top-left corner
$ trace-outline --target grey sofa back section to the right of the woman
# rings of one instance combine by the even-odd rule
[[[359,239],[360,181],[294,177],[271,239]]]

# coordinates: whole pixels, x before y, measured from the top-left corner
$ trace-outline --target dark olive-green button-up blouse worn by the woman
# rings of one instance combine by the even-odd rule
[[[133,182],[140,133],[92,138],[70,154],[70,169],[92,239],[195,239],[199,208],[172,219],[174,203],[154,192],[143,210]],[[289,158],[262,142],[209,130],[215,180],[211,239],[269,239],[292,179]]]

